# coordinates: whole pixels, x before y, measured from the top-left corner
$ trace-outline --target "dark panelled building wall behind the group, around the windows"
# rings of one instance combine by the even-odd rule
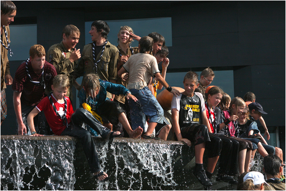
[[[82,31],[84,39],[85,21],[172,17],[168,57],[176,64],[168,67],[169,72],[207,66],[233,69],[235,96],[252,91],[268,113],[263,116],[267,126],[285,127],[284,1],[13,2],[17,6],[14,24],[29,23],[22,17],[36,17],[37,43],[46,50],[61,40],[62,28],[70,23]],[[77,48],[83,46],[81,40]],[[10,63],[12,76],[18,65]],[[1,134],[13,134],[15,129],[10,87],[7,95],[8,117]]]

